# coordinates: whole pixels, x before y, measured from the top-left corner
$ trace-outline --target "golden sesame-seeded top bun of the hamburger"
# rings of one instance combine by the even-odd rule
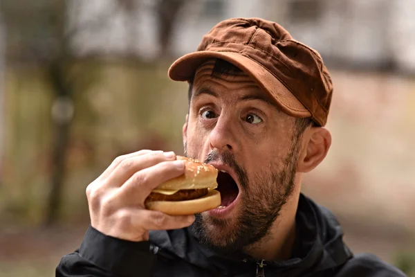
[[[177,156],[176,158],[185,161],[185,174],[160,184],[156,189],[190,190],[218,186],[216,183],[218,170],[214,166],[187,157]]]

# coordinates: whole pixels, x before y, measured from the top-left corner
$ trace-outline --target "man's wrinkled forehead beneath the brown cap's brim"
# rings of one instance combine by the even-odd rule
[[[225,65],[226,66],[226,65]],[[243,71],[234,72],[215,66],[215,60],[203,63],[194,75],[192,94],[209,91],[218,97],[254,96],[266,102],[272,102],[268,93],[265,93],[257,83]]]

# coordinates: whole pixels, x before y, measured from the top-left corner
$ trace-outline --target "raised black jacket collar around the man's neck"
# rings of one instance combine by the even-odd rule
[[[338,267],[351,258],[352,253],[342,241],[342,229],[335,217],[300,195],[296,215],[297,232],[293,258],[282,261],[263,261],[266,271],[285,272],[299,276],[304,272],[323,271]],[[151,231],[150,241],[158,255],[178,257],[198,267],[223,274],[237,275],[252,271],[259,260],[246,253],[221,255],[206,249],[194,237],[190,228],[170,231]]]

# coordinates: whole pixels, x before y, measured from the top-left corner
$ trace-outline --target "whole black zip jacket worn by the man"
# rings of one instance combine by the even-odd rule
[[[353,256],[335,217],[304,195],[296,222],[293,258],[282,262],[243,253],[220,256],[199,244],[190,229],[154,231],[149,242],[128,242],[89,227],[80,249],[62,258],[56,276],[405,276],[376,256]]]

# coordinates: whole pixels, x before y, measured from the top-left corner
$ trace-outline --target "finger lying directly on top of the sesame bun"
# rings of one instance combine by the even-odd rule
[[[122,199],[131,199],[133,203],[144,204],[145,199],[159,184],[179,177],[185,173],[185,163],[181,160],[163,161],[154,166],[136,172],[131,178],[124,183],[118,190]]]

